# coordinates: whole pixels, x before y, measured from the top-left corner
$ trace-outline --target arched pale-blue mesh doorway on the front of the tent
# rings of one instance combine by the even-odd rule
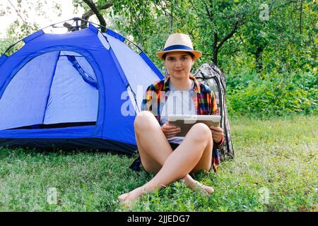
[[[28,61],[4,91],[0,130],[94,125],[98,95],[93,68],[81,54],[41,54]]]

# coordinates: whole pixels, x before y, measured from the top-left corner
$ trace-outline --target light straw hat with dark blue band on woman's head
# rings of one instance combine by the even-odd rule
[[[167,52],[192,52],[194,54],[194,59],[201,57],[202,53],[193,49],[192,42],[189,35],[175,33],[170,35],[165,42],[165,47],[163,51],[157,52],[157,57],[163,58],[163,54]]]

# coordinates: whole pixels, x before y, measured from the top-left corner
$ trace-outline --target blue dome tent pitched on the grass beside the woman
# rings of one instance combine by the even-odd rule
[[[112,30],[39,30],[0,57],[0,146],[134,153],[143,93],[163,75]]]

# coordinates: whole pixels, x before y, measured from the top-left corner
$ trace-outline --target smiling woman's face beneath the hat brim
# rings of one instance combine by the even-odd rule
[[[165,67],[174,78],[189,77],[194,59],[187,52],[168,52],[165,56]]]

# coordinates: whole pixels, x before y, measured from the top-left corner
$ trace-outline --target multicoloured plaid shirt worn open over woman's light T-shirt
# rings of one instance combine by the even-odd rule
[[[196,114],[219,114],[214,92],[208,86],[196,81],[194,76],[190,76],[190,79],[194,81],[194,88],[192,92],[192,100],[194,107],[196,108]],[[141,109],[143,111],[150,111],[155,115],[155,118],[160,121],[160,112],[167,101],[167,97],[170,91],[169,88],[170,77],[166,77],[164,80],[155,82],[146,90],[143,96],[143,102]],[[213,143],[213,167],[214,170],[218,169],[220,165],[220,157],[218,150],[223,148],[224,137],[219,143]]]

